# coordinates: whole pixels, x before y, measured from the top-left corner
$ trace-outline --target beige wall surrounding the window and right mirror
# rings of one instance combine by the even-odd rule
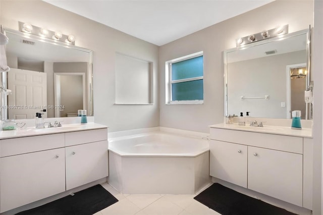
[[[289,32],[307,29],[313,24],[313,2],[278,0],[161,46],[160,126],[208,132],[208,125],[222,123],[223,51],[235,47],[236,38],[284,24],[289,24]],[[204,104],[165,104],[165,62],[197,51],[204,53]]]

